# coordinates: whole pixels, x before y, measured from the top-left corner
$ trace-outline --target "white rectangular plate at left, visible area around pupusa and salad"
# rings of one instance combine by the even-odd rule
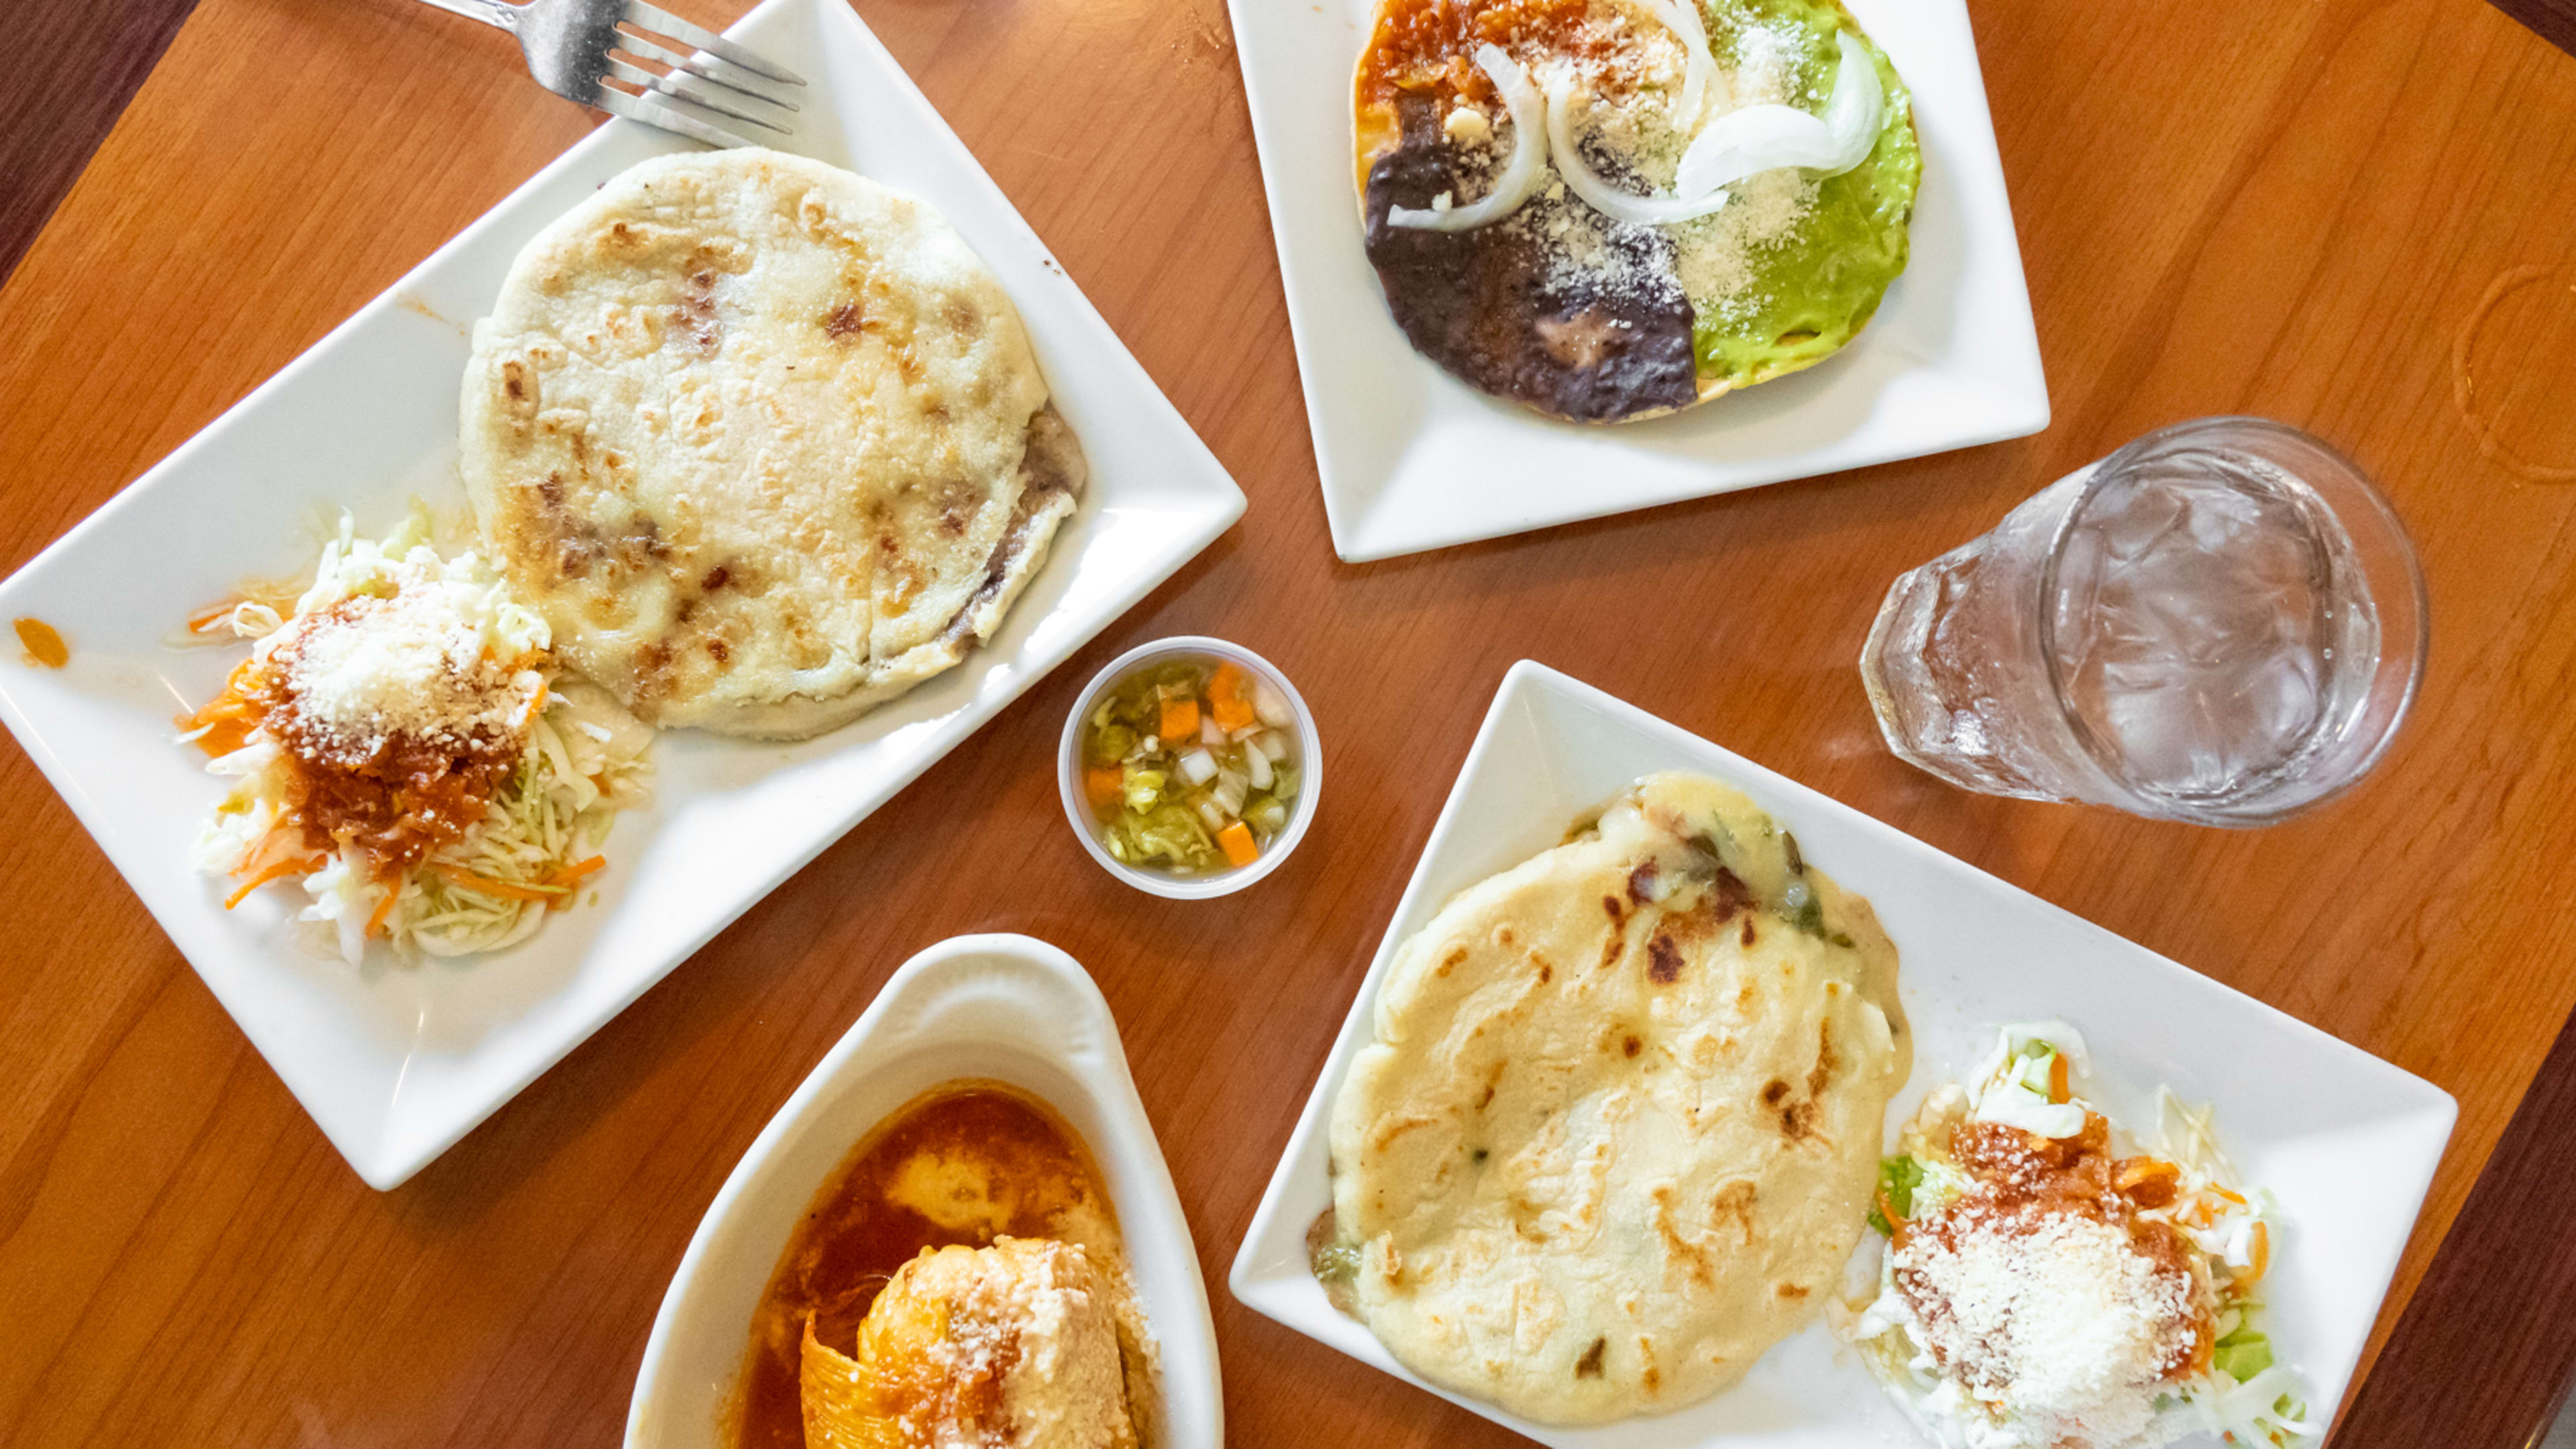
[[[966,152],[837,0],[770,0],[732,36],[811,80],[796,150],[933,201],[1002,278],[1082,436],[1082,511],[1002,632],[914,694],[801,745],[667,732],[657,804],[618,820],[600,905],[497,957],[361,969],[296,946],[283,892],[224,913],[188,866],[222,797],[173,717],[240,650],[165,639],[237,580],[312,565],[348,505],[386,529],[410,498],[464,508],[466,333],[541,227],[629,165],[690,142],[611,121],[309,353],[0,583],[0,616],[72,645],[64,670],[0,665],[0,719],[358,1176],[389,1189],[510,1101],[912,784],[1190,554],[1244,495]]]

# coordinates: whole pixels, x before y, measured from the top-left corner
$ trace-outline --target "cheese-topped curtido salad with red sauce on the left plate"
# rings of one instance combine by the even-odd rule
[[[384,539],[343,516],[299,596],[252,588],[188,621],[252,639],[180,722],[237,781],[196,864],[234,879],[227,910],[294,882],[350,964],[371,938],[399,957],[526,941],[605,866],[616,812],[649,802],[652,730],[559,673],[546,621],[430,534],[420,508]]]

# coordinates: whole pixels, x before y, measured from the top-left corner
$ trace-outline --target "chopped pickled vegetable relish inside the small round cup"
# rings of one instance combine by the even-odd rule
[[[1296,789],[1296,712],[1234,660],[1139,665],[1082,730],[1082,799],[1100,846],[1128,866],[1249,866],[1288,828]]]

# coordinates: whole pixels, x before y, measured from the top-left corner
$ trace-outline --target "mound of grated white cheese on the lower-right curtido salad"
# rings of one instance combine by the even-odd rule
[[[2143,1436],[2166,1366],[2190,1348],[2190,1281],[2089,1217],[2022,1232],[1965,1209],[1953,1225],[1955,1248],[1917,1232],[1893,1258],[1917,1338],[2030,1444]]]

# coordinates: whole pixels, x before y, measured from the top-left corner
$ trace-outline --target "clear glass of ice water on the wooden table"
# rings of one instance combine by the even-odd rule
[[[2388,500],[2262,418],[2159,428],[1888,588],[1860,678],[1935,776],[2269,825],[2347,789],[2424,678]]]

